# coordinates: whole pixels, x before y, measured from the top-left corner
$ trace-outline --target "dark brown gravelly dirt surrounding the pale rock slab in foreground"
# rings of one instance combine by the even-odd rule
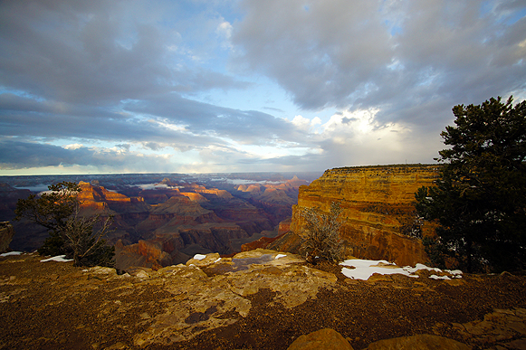
[[[286,349],[298,336],[325,327],[340,332],[355,349],[380,339],[425,333],[463,341],[454,323],[481,319],[496,308],[526,307],[526,277],[508,273],[464,275],[451,284],[419,279],[416,285],[400,275],[356,281],[346,279],[336,265],[316,268],[336,274],[340,288],[322,290],[317,298],[291,309],[270,307],[273,292],[263,289],[247,297],[253,307],[234,325],[186,342],[147,348]],[[152,287],[117,300],[110,294],[119,281],[92,281],[82,292],[57,283],[59,277],[79,270],[72,262],[0,258],[0,348],[133,348],[133,335],[148,326],[141,317],[146,311],[155,317],[162,312],[161,300],[171,297]],[[116,319],[114,307],[121,302],[135,307]]]

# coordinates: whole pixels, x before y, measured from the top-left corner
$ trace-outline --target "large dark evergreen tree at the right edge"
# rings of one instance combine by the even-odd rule
[[[473,270],[523,269],[526,262],[526,101],[455,106],[441,136],[435,187],[416,193],[416,210],[440,223],[427,239],[435,260]]]

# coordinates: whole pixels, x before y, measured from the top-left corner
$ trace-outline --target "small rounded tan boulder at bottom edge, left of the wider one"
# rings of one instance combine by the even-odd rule
[[[300,336],[287,350],[352,350],[347,339],[331,328]]]

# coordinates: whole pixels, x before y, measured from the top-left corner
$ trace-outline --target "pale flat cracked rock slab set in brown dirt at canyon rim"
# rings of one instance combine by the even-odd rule
[[[336,276],[298,265],[299,262],[302,260],[292,254],[257,250],[232,259],[208,254],[202,260],[188,260],[186,265],[157,272],[140,270],[136,276],[149,284],[162,284],[174,298],[167,301],[166,312],[155,317],[145,332],[134,336],[134,345],[170,345],[231,325],[239,317],[246,317],[252,307],[244,297],[260,289],[276,292],[272,303],[291,308],[316,298],[319,289],[334,287]],[[201,269],[214,276],[208,277]]]

